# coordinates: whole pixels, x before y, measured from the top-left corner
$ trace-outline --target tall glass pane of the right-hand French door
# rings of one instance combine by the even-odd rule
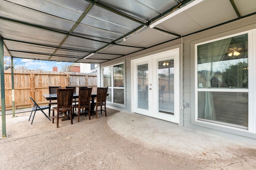
[[[174,60],[158,62],[158,111],[174,115]]]

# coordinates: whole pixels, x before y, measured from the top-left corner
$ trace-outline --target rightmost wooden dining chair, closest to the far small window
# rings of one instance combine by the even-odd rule
[[[105,112],[105,116],[107,116],[106,111],[106,100],[107,100],[107,94],[108,94],[108,87],[98,87],[97,88],[97,98],[96,98],[96,119],[98,118],[98,106],[100,106],[100,114],[102,114],[102,111]],[[102,106],[104,106],[104,110],[102,109]]]

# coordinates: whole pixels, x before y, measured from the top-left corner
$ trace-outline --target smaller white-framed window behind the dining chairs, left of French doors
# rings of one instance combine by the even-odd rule
[[[103,86],[108,87],[107,101],[124,105],[124,63],[103,68]]]

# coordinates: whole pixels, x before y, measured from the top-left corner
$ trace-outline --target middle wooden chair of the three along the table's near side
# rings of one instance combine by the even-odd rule
[[[92,88],[79,88],[78,105],[73,105],[73,114],[78,115],[78,122],[80,116],[80,110],[84,109],[84,115],[86,116],[86,109],[88,109],[89,120],[91,119],[90,100],[92,95]],[[78,108],[78,113],[74,113],[74,108]]]

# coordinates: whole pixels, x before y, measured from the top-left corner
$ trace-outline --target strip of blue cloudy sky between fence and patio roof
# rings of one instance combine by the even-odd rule
[[[9,61],[11,63],[11,58],[4,57],[4,61],[6,61],[6,64],[9,65]],[[15,68],[15,65],[17,65],[17,66],[25,66],[29,70],[43,69],[46,71],[52,71],[53,66],[58,67],[58,71],[59,71],[62,65],[72,64],[72,63],[58,62],[58,61],[42,61],[42,60],[32,60],[32,59],[20,59],[20,58],[13,58],[13,63],[14,63],[14,68]]]

